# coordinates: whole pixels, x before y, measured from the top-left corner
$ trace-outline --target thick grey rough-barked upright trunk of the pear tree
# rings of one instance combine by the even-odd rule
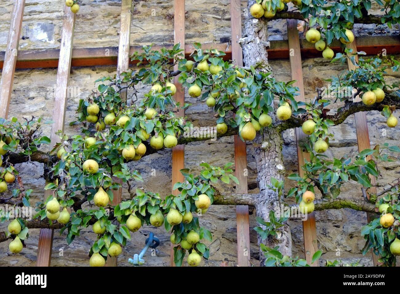
[[[255,0],[248,1],[248,9],[255,3]],[[244,23],[244,37],[240,40],[244,54],[244,64],[246,67],[251,65],[257,71],[271,72],[268,64],[267,48],[267,22],[264,18],[253,18],[250,13],[246,15]],[[272,117],[274,115],[272,114]],[[273,117],[274,119],[274,117]],[[270,211],[280,211],[280,205],[283,204],[282,196],[278,196],[278,192],[274,192],[267,188],[267,184],[271,184],[271,177],[278,181],[284,180],[285,169],[282,158],[282,137],[279,130],[274,128],[264,128],[263,134],[258,134],[255,138],[254,146],[256,165],[257,165],[257,182],[260,193],[254,199],[256,215],[269,220]],[[276,238],[268,238],[261,240],[258,237],[258,245],[266,244],[268,247],[279,246],[283,255],[292,255],[292,237],[289,225],[278,229]],[[260,264],[264,265],[265,257],[260,250]]]

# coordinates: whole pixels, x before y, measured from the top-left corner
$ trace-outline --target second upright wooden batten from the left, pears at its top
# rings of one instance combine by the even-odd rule
[[[75,14],[68,6],[64,8],[60,58],[57,69],[56,91],[54,96],[53,121],[50,134],[50,150],[60,140],[56,135],[58,130],[64,130],[65,111],[67,106],[68,80],[71,70],[72,42],[74,36]],[[52,194],[51,190],[44,192],[44,200]],[[54,231],[40,229],[37,266],[50,266]]]

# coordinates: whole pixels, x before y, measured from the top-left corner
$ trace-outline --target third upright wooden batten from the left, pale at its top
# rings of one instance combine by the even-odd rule
[[[120,40],[118,45],[117,77],[129,69],[130,25],[132,20],[132,0],[122,0],[120,20]],[[124,84],[121,84],[124,86]],[[126,100],[127,89],[121,91],[122,100]],[[122,184],[122,180],[112,177],[114,182]],[[118,205],[122,200],[122,188],[113,190],[112,206]],[[108,256],[106,266],[117,266],[117,257]]]

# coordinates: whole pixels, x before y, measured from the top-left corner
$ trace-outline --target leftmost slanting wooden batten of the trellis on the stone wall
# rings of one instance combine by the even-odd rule
[[[4,65],[0,84],[0,117],[2,118],[7,118],[8,106],[10,106],[24,7],[25,0],[16,0],[14,7],[12,8],[10,30],[8,32],[7,49],[6,55],[4,56]]]

